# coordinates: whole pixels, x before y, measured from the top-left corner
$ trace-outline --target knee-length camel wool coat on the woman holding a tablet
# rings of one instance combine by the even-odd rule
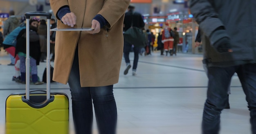
[[[76,15],[75,28],[91,27],[97,14],[109,23],[94,35],[81,31],[56,32],[53,80],[67,84],[78,45],[81,87],[117,83],[124,47],[124,13],[130,0],[50,0],[50,4],[55,15],[62,6],[69,6]],[[58,20],[57,27],[70,26]]]

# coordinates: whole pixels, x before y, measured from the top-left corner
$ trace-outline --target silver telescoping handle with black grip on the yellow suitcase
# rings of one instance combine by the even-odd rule
[[[46,87],[46,99],[50,99],[50,19],[51,13],[45,12],[28,12],[25,13],[26,17],[26,99],[29,100],[29,83],[30,83],[30,58],[29,58],[29,19],[31,16],[45,16],[47,18],[47,87]]]

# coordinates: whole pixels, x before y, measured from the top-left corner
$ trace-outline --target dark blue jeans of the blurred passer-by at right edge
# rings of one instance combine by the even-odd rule
[[[227,90],[231,77],[236,72],[246,95],[250,110],[252,132],[256,134],[256,64],[232,67],[207,67],[208,91],[204,104],[202,119],[203,134],[218,134],[220,130],[220,113],[228,100]]]

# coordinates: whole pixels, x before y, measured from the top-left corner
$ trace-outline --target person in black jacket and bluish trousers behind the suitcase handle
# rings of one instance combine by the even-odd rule
[[[43,84],[40,82],[37,76],[37,67],[40,62],[40,41],[37,34],[38,22],[40,20],[36,17],[29,20],[29,57],[30,57],[30,67],[32,82],[34,84]],[[20,58],[20,78],[21,83],[25,84],[26,81],[26,29],[20,31],[17,36],[17,44],[15,55]]]

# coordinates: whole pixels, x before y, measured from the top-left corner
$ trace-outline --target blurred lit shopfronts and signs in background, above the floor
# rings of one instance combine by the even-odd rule
[[[29,1],[36,2],[30,3]],[[47,4],[49,0],[0,0],[0,2],[0,13],[9,13],[9,10],[14,10],[19,17],[30,11],[52,13],[49,4]],[[132,4],[136,8],[135,11],[144,16],[145,28],[153,32],[156,39],[158,33],[165,26],[172,29],[177,27],[180,33],[178,45],[182,45],[182,51],[192,54],[202,53],[202,45],[197,48],[193,47],[195,46],[194,39],[198,32],[198,25],[193,21],[193,15],[189,14],[186,0],[132,0]],[[54,15],[53,18],[55,18]],[[0,26],[3,25],[5,19],[7,18],[0,16]],[[154,46],[157,46],[157,41],[155,41]]]

